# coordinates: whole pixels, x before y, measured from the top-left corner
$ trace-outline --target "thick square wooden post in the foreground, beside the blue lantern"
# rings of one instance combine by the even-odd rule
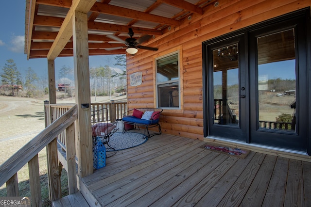
[[[78,157],[78,175],[85,177],[93,174],[87,14],[75,11],[72,18],[72,25],[75,92],[76,104],[78,106],[76,154]]]

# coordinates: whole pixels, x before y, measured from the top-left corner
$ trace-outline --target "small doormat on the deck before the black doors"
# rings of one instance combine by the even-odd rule
[[[237,158],[242,158],[242,159],[244,159],[250,152],[250,150],[241,149],[235,146],[228,146],[228,145],[224,145],[220,143],[211,143],[211,142],[205,143],[203,147],[206,149],[210,149],[212,151],[215,150],[217,152],[231,155]]]

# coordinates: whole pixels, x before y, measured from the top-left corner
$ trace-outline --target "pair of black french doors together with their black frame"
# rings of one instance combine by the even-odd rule
[[[203,44],[205,136],[307,151],[308,15]]]

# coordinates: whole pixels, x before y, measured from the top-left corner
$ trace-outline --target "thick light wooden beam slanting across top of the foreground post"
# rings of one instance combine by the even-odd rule
[[[87,13],[94,5],[96,0],[74,0],[72,1],[69,12],[64,19],[64,22],[52,44],[52,47],[47,55],[48,60],[54,60],[66,46],[72,36],[72,18],[75,11]]]

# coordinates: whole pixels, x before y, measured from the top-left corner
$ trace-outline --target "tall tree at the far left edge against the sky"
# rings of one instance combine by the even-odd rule
[[[7,63],[2,68],[3,73],[1,74],[1,81],[2,84],[10,85],[14,96],[14,85],[20,84],[20,73],[13,59],[9,59],[6,62]]]

